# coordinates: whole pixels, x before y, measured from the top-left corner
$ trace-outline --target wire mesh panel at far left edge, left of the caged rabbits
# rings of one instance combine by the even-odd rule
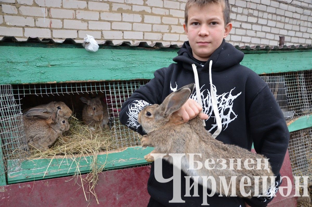
[[[22,112],[13,96],[11,85],[0,85],[0,138],[5,161],[12,162],[6,168],[16,166],[27,155]]]

